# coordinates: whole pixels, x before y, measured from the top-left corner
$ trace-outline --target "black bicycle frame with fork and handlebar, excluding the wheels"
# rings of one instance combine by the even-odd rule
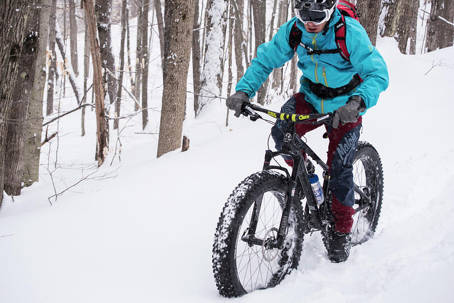
[[[283,243],[286,238],[286,231],[287,231],[287,226],[288,226],[288,219],[291,211],[292,204],[297,206],[299,205],[297,200],[299,199],[300,196],[298,194],[295,194],[297,191],[300,189],[303,190],[304,195],[306,196],[307,202],[306,202],[306,209],[308,211],[304,212],[305,216],[309,216],[309,218],[305,218],[306,221],[308,222],[305,233],[310,232],[311,230],[329,230],[331,228],[331,222],[328,220],[323,220],[324,216],[322,216],[322,213],[320,211],[319,205],[317,203],[317,200],[315,198],[314,192],[312,190],[311,183],[309,181],[309,174],[306,169],[306,165],[304,163],[304,158],[303,154],[301,153],[304,151],[306,155],[312,158],[322,169],[323,169],[323,194],[324,194],[324,201],[323,205],[327,205],[327,199],[330,196],[329,194],[329,168],[328,166],[315,154],[315,152],[304,142],[296,133],[295,130],[295,124],[298,123],[299,121],[305,121],[305,120],[312,120],[312,119],[317,119],[317,122],[313,123],[320,123],[320,121],[327,120],[326,122],[322,123],[330,123],[331,122],[331,115],[320,115],[320,114],[312,114],[312,115],[291,115],[291,114],[285,114],[285,113],[275,113],[272,111],[268,111],[265,109],[262,109],[257,106],[249,105],[248,112],[246,112],[245,115],[249,115],[251,120],[255,121],[259,118],[261,118],[260,115],[254,112],[260,111],[263,113],[268,114],[269,116],[279,119],[284,120],[288,122],[287,129],[285,131],[285,136],[284,140],[282,143],[282,148],[278,151],[271,151],[271,150],[266,150],[265,151],[265,160],[264,160],[264,165],[263,165],[263,170],[271,170],[271,169],[276,169],[276,170],[281,170],[286,173],[286,175],[289,177],[290,182],[289,182],[289,187],[287,189],[287,193],[285,196],[285,201],[284,201],[284,208],[282,210],[282,217],[279,223],[279,228],[277,230],[277,238],[274,241],[269,241],[266,243],[267,248],[278,248],[281,249],[283,247]],[[310,122],[309,122],[310,123]],[[292,170],[292,174],[289,174],[289,170],[287,168],[283,168],[281,166],[273,166],[270,165],[271,160],[276,157],[276,156],[282,156],[286,155],[289,156],[293,159],[294,161],[294,166]],[[357,203],[359,204],[359,208],[355,209],[355,212],[359,212],[363,210],[364,208],[367,208],[368,206],[371,205],[370,197],[367,196],[366,193],[364,193],[358,186],[355,185],[355,192],[357,192],[360,195],[360,199],[357,200]],[[255,232],[256,232],[256,227],[257,227],[257,222],[258,222],[258,214],[260,213],[260,208],[261,208],[261,203],[262,203],[262,196],[258,197],[254,203],[254,207],[252,210],[252,215],[251,215],[251,220],[249,224],[249,228],[246,229],[245,233],[241,237],[243,241],[246,241],[250,246],[252,245],[264,245],[264,239],[259,239],[255,237]],[[247,234],[246,234],[247,233]]]

